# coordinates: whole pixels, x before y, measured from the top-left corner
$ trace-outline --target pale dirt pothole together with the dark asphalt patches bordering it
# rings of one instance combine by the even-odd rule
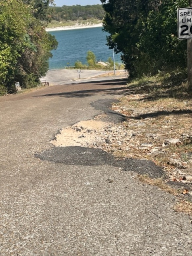
[[[109,119],[113,123],[123,121],[124,117],[122,115],[109,110],[112,102],[114,100],[98,100],[93,102],[93,106],[96,109],[102,110],[106,114],[106,118],[102,118],[102,121],[80,121],[72,127],[62,129],[55,136],[55,139],[50,141],[55,147],[51,150],[43,151],[40,154],[35,154],[35,157],[43,161],[52,161],[65,165],[111,165],[122,168],[125,171],[146,174],[151,178],[162,177],[164,172],[152,161],[138,159],[119,160],[102,149],[92,148],[95,141],[105,132],[105,128],[109,125]]]

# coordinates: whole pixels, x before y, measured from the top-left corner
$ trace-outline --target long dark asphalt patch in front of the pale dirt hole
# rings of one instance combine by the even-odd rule
[[[112,154],[101,149],[85,147],[54,147],[51,150],[35,154],[35,157],[43,161],[52,161],[66,165],[111,165],[122,168],[125,171],[134,171],[138,174],[146,174],[151,178],[160,178],[164,175],[162,169],[152,161],[139,159],[118,160]]]

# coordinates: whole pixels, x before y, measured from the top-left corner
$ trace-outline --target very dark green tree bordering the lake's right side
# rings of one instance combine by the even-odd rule
[[[115,52],[122,52],[122,60],[133,72],[133,60],[137,59],[137,47],[142,24],[150,11],[148,0],[101,0],[106,11],[104,30],[109,32],[107,44]]]

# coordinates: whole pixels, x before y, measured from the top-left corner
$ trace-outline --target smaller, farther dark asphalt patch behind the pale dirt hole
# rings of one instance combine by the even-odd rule
[[[99,99],[91,103],[91,106],[97,110],[103,111],[107,118],[104,118],[103,121],[110,121],[114,123],[121,123],[126,120],[126,116],[111,110],[112,103],[117,103],[117,99]]]

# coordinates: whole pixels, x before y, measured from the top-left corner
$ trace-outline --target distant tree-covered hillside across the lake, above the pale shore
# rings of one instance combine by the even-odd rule
[[[57,22],[86,21],[88,19],[102,20],[105,11],[102,5],[73,5],[62,7],[50,7],[50,19]]]

